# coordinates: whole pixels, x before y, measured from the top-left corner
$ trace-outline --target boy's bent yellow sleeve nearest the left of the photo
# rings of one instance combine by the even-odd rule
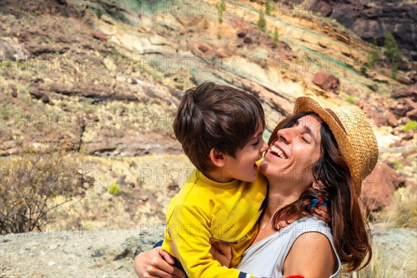
[[[168,237],[188,277],[246,277],[245,272],[222,266],[211,257],[210,222],[198,205],[181,204],[172,211]]]

